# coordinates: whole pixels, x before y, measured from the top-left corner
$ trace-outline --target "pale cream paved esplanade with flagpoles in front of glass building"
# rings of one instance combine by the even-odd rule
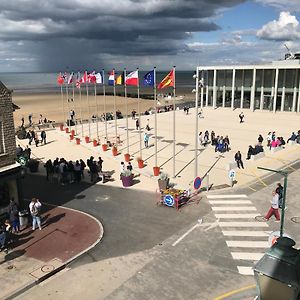
[[[209,182],[214,186],[229,185],[228,170],[226,169],[230,161],[234,161],[234,154],[240,150],[243,156],[245,169],[237,169],[237,185],[245,185],[253,181],[259,181],[258,177],[267,174],[265,171],[257,170],[257,166],[266,168],[281,168],[299,158],[300,147],[297,145],[286,145],[284,150],[271,153],[266,147],[266,136],[269,131],[276,131],[277,136],[283,136],[285,140],[290,136],[292,131],[297,131],[299,124],[299,115],[291,113],[270,113],[268,111],[244,111],[245,122],[239,123],[239,110],[231,109],[204,109],[204,118],[199,119],[199,131],[204,133],[205,130],[215,131],[217,135],[228,135],[230,139],[231,150],[223,153],[221,158],[209,172]],[[158,165],[161,170],[170,177],[173,176],[173,147],[172,147],[172,112],[158,114]],[[150,147],[142,149],[142,158],[145,161],[143,169],[138,169],[135,158],[139,156],[139,132],[135,130],[135,121],[129,119],[129,153],[132,155],[132,164],[136,172],[141,173],[140,183],[134,185],[136,189],[146,189],[155,191],[157,188],[157,180],[153,177],[153,166],[155,164],[154,155],[154,115],[143,116],[141,127],[145,127],[146,120],[150,120],[151,131]],[[67,160],[76,160],[83,158],[86,160],[93,155],[95,158],[101,156],[104,160],[103,169],[107,171],[115,170],[113,182],[106,183],[112,186],[122,186],[119,180],[119,164],[124,161],[124,155],[127,152],[126,142],[126,120],[118,120],[118,134],[122,144],[118,147],[120,155],[113,157],[111,151],[103,152],[101,146],[93,147],[92,143],[86,144],[84,136],[88,134],[88,125],[83,126],[84,133],[81,133],[81,126],[77,126],[78,136],[81,138],[81,145],[76,145],[75,140],[69,140],[69,134],[59,131],[48,131],[47,141],[50,142],[46,146],[32,146],[34,155],[46,161],[51,158],[64,157]],[[91,124],[91,139],[96,138],[96,124]],[[74,128],[74,127],[73,127]],[[100,143],[105,142],[104,123],[99,123]],[[142,130],[144,132],[144,129]],[[110,121],[108,125],[108,137],[114,140],[114,121]],[[263,145],[265,146],[265,157],[247,161],[246,153],[249,145],[257,143],[258,135],[264,137]],[[82,137],[83,136],[83,137]],[[180,188],[188,188],[193,182],[194,176],[194,138],[195,136],[195,110],[191,109],[189,115],[182,110],[176,111],[176,178],[172,178],[171,182],[177,184]],[[27,140],[20,141],[25,145]],[[142,141],[143,145],[143,141]],[[213,146],[199,146],[198,157],[198,176],[202,177],[211,168],[211,166],[220,157],[219,153],[214,151]],[[204,180],[205,182],[205,180]]]

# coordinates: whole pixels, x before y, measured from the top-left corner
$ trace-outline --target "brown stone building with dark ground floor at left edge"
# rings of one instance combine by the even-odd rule
[[[11,198],[21,204],[21,197],[11,91],[0,82],[0,215],[6,212]]]

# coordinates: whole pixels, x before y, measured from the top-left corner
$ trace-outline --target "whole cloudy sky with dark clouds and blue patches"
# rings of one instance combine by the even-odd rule
[[[269,62],[299,20],[300,0],[1,0],[0,72]]]

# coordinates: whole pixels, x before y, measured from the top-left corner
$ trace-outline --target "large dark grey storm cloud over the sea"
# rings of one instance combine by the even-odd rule
[[[191,33],[218,30],[219,11],[243,2],[2,0],[0,40],[27,41],[23,51],[52,70],[101,64],[101,55],[175,55]]]

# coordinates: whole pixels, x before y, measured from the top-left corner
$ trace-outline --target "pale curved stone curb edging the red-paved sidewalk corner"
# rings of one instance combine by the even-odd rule
[[[24,199],[24,200],[28,200],[28,199]],[[14,292],[12,292],[11,294],[4,296],[3,298],[0,298],[1,300],[11,300],[14,299],[17,296],[20,296],[21,294],[23,294],[24,292],[28,291],[29,289],[33,288],[35,285],[38,285],[39,283],[43,282],[44,280],[52,277],[53,275],[57,274],[58,272],[62,271],[63,269],[65,269],[67,267],[68,264],[70,264],[71,262],[75,261],[76,259],[78,259],[80,256],[82,256],[83,254],[85,254],[86,252],[88,252],[89,250],[91,250],[92,248],[94,248],[103,238],[104,235],[104,228],[102,223],[96,219],[94,216],[83,212],[83,211],[79,211],[73,208],[69,208],[69,207],[65,207],[65,206],[61,206],[61,205],[54,205],[54,204],[50,204],[47,202],[43,202],[45,205],[48,206],[53,206],[53,207],[61,207],[64,209],[68,209],[68,210],[72,210],[75,212],[79,212],[81,214],[84,214],[88,217],[90,217],[91,219],[95,220],[100,228],[100,235],[98,237],[98,239],[92,244],[90,245],[88,248],[82,250],[81,252],[79,252],[78,254],[76,254],[75,256],[71,257],[70,259],[68,259],[67,261],[65,261],[61,266],[59,266],[58,268],[50,271],[49,273],[45,274],[44,276],[42,276],[41,278],[37,279],[37,280],[33,280],[32,282],[29,282],[27,284],[25,284],[24,286],[18,288],[17,290],[15,290]]]

